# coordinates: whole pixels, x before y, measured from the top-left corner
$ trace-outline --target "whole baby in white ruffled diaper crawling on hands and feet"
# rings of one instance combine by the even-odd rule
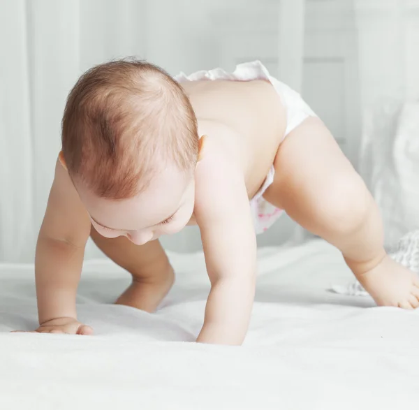
[[[419,279],[385,254],[364,182],[259,61],[176,78],[144,61],[91,68],[68,96],[38,237],[37,331],[93,332],[75,308],[89,236],[133,277],[116,303],[153,312],[174,281],[158,239],[197,224],[211,282],[197,342],[242,344],[256,233],[283,211],[339,248],[378,305],[419,306]]]

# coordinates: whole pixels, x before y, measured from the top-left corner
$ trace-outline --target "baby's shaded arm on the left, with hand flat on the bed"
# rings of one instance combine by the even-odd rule
[[[67,171],[57,161],[35,258],[39,332],[89,334],[77,321],[75,297],[90,220]]]

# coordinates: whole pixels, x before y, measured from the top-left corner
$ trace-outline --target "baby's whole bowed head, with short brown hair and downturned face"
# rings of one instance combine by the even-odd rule
[[[60,160],[98,233],[142,244],[189,221],[198,140],[189,98],[168,73],[112,61],[69,94]]]

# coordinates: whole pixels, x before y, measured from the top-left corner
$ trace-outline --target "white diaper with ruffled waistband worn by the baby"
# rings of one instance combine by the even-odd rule
[[[286,108],[287,125],[284,137],[291,133],[291,131],[299,126],[307,117],[317,117],[297,91],[294,91],[288,87],[288,85],[278,81],[276,78],[273,78],[267,71],[267,68],[263,66],[260,61],[239,64],[236,66],[233,73],[228,73],[222,68],[214,68],[213,70],[208,71],[197,71],[196,73],[190,75],[180,73],[175,76],[175,80],[177,82],[197,80],[269,81],[277,91],[284,107]],[[283,210],[274,207],[274,205],[263,199],[263,193],[265,193],[268,186],[270,186],[270,184],[274,181],[274,175],[275,170],[272,165],[265,182],[263,182],[259,191],[250,200],[256,233],[265,232],[265,230],[267,230],[267,228],[269,228],[283,212]]]

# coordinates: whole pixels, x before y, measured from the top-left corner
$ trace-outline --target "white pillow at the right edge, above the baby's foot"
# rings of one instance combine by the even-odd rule
[[[367,122],[360,174],[383,217],[385,247],[419,229],[419,103],[386,101]]]

